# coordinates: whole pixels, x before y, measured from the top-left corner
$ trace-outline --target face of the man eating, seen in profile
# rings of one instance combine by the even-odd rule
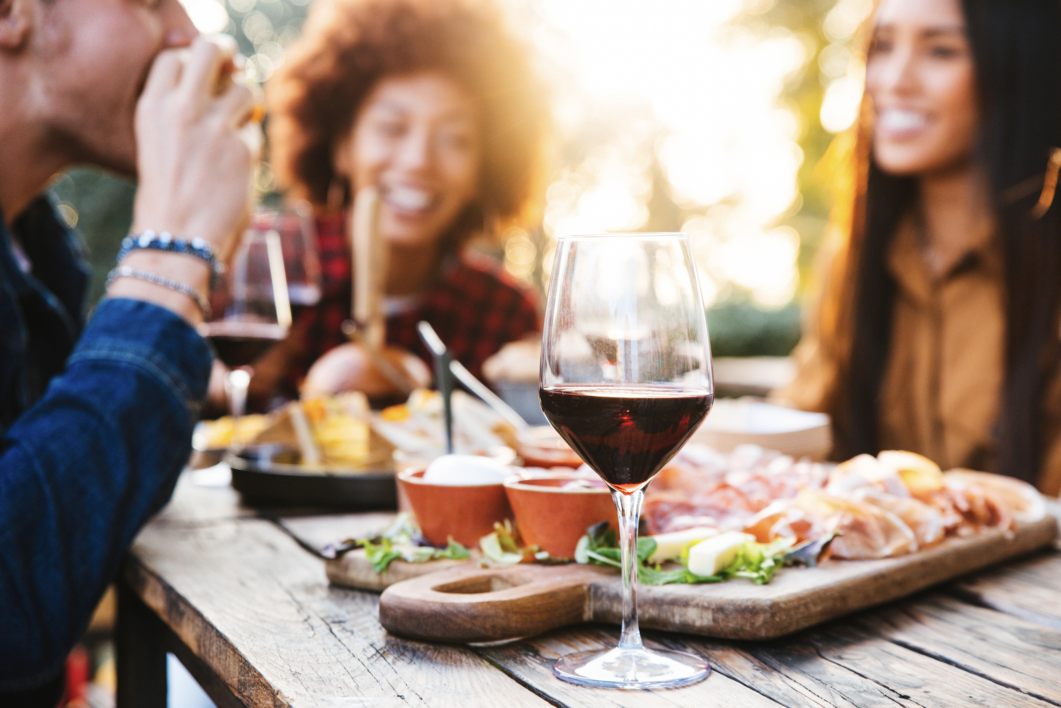
[[[134,115],[164,49],[197,34],[178,0],[41,0],[33,38],[47,138],[74,163],[136,175]]]

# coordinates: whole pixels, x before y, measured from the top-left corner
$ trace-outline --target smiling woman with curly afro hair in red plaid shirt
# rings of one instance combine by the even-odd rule
[[[259,391],[268,370],[294,383],[346,341],[347,225],[366,186],[380,195],[388,254],[388,344],[427,360],[416,332],[427,320],[479,374],[503,344],[540,329],[535,295],[465,248],[533,212],[549,126],[530,53],[495,3],[317,0],[267,98],[274,170],[314,207],[324,288],[262,367]]]

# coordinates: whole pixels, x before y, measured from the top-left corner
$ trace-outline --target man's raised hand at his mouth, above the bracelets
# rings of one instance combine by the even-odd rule
[[[133,230],[199,237],[223,259],[249,218],[262,140],[250,90],[230,80],[233,53],[205,37],[160,53],[136,111]]]

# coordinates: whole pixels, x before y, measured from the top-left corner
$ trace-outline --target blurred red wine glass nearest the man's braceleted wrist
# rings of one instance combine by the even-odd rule
[[[229,369],[225,391],[238,419],[246,408],[251,362],[291,327],[282,239],[272,223],[256,218],[244,231],[211,305],[211,317],[199,325],[199,332]]]

